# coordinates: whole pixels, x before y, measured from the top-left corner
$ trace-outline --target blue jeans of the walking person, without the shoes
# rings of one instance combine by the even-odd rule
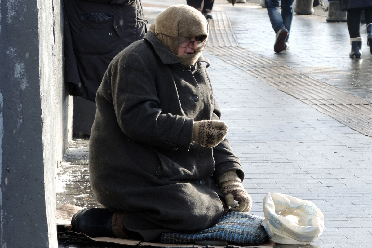
[[[293,1],[294,0],[282,0],[282,3],[280,4],[282,7],[282,12],[280,13],[280,0],[265,0],[265,6],[267,8],[267,12],[269,13],[270,22],[275,33],[277,33],[281,28],[288,30],[286,41],[288,41],[289,32],[291,31]]]

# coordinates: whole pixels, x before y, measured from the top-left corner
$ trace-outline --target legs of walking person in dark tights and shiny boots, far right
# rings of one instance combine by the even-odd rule
[[[360,17],[364,11],[367,24],[367,44],[372,54],[372,0],[340,0],[341,11],[347,11],[347,29],[349,30],[350,58],[362,58],[363,38],[360,36]]]

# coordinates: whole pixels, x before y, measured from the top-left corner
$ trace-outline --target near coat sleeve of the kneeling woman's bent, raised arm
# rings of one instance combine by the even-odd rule
[[[161,112],[153,74],[135,52],[126,52],[110,66],[105,76],[118,124],[134,141],[189,150],[193,119]]]

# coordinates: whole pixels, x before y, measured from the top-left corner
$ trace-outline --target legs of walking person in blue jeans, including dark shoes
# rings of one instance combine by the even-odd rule
[[[281,3],[280,0],[265,0],[271,25],[276,33],[275,52],[282,52],[289,48],[288,38],[293,19],[293,2],[294,0],[282,0]]]

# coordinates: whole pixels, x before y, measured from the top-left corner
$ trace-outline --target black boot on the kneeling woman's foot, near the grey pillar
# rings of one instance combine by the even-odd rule
[[[84,233],[91,238],[115,238],[112,232],[112,215],[112,212],[104,208],[81,209],[71,220],[71,230]]]

